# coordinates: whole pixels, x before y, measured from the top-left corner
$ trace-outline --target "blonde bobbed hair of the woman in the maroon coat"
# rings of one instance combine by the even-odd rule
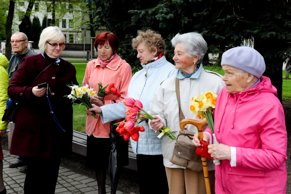
[[[65,42],[65,36],[62,33],[62,31],[59,29],[59,27],[49,26],[43,29],[42,33],[40,34],[39,42],[38,42],[38,47],[42,53],[44,53],[47,47],[46,43],[48,41],[54,41],[54,42],[63,41],[63,43]]]

